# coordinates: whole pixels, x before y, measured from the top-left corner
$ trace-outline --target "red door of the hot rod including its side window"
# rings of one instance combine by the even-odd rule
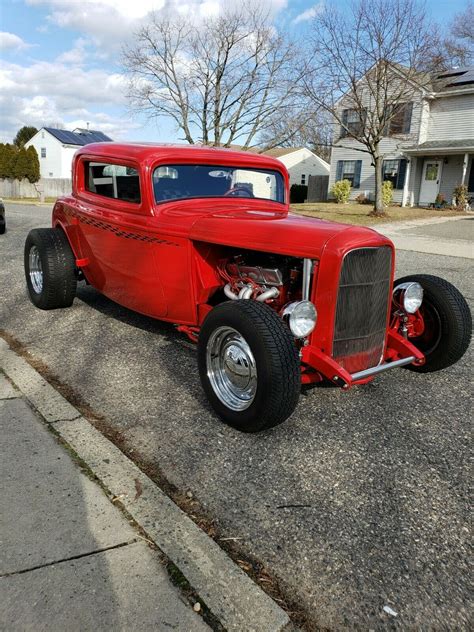
[[[89,282],[120,305],[163,317],[166,302],[155,265],[160,240],[149,230],[138,166],[111,159],[82,160],[78,205],[81,248]]]

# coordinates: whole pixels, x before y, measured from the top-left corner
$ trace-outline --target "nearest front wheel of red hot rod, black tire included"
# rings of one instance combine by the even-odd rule
[[[240,300],[215,307],[199,332],[198,364],[209,402],[237,430],[277,426],[298,402],[298,351],[268,305]]]

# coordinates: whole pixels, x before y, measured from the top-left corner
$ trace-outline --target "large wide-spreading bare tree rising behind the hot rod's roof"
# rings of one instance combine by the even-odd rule
[[[294,47],[255,2],[200,24],[155,13],[124,51],[134,110],[168,117],[189,143],[252,145],[294,99]]]

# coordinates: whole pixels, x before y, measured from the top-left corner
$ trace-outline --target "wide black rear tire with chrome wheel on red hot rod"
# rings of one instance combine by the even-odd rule
[[[60,228],[35,228],[25,242],[28,294],[39,309],[70,307],[76,296],[76,259]]]

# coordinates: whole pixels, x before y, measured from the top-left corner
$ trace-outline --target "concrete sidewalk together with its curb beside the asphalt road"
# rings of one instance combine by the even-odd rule
[[[0,427],[0,630],[209,630],[191,608],[197,602],[219,630],[294,629],[212,538],[2,338]],[[166,564],[187,582],[192,603],[172,585]]]

